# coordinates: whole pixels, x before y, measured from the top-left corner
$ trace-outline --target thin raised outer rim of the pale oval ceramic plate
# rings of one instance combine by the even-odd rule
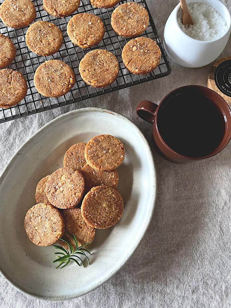
[[[122,264],[120,264],[113,272],[109,272],[108,275],[98,284],[98,285],[93,285],[91,287],[89,287],[87,290],[85,290],[82,293],[76,293],[76,294],[72,294],[69,296],[66,296],[65,299],[63,298],[63,296],[61,297],[57,297],[55,298],[49,298],[49,297],[43,297],[43,296],[37,296],[33,293],[27,292],[25,289],[23,289],[21,286],[18,286],[17,283],[15,283],[11,278],[9,278],[7,276],[7,274],[4,273],[4,270],[1,267],[0,264],[0,274],[6,278],[6,280],[14,287],[16,288],[18,291],[22,292],[23,294],[29,295],[33,298],[39,299],[39,300],[46,300],[46,301],[63,301],[63,300],[70,300],[70,299],[74,299],[74,298],[78,298],[81,297],[85,294],[88,294],[92,291],[94,291],[95,289],[97,289],[99,286],[103,285],[105,282],[107,282],[110,278],[112,278],[124,265],[125,263],[130,259],[130,257],[132,256],[132,254],[135,252],[137,246],[139,245],[140,241],[142,240],[142,238],[144,237],[144,234],[146,233],[148,226],[151,222],[152,219],[152,215],[154,213],[154,209],[155,209],[155,202],[156,202],[156,195],[157,195],[157,179],[156,179],[156,166],[153,160],[153,155],[152,155],[152,151],[150,149],[150,146],[148,144],[148,141],[146,140],[145,136],[143,135],[143,133],[139,130],[139,128],[128,118],[126,118],[123,115],[120,115],[119,113],[116,113],[114,111],[110,111],[107,109],[103,109],[103,108],[97,108],[97,107],[86,107],[86,108],[80,108],[80,109],[76,109],[73,111],[69,111],[63,115],[58,116],[57,118],[55,118],[54,120],[51,120],[49,123],[45,124],[42,128],[40,128],[36,133],[34,133],[24,144],[22,144],[22,146],[18,149],[18,151],[12,156],[12,158],[9,160],[9,162],[7,163],[6,167],[3,169],[2,174],[0,175],[0,187],[1,184],[4,180],[5,175],[7,174],[8,170],[10,170],[11,165],[13,164],[15,158],[18,156],[18,154],[22,151],[22,149],[24,147],[26,147],[28,144],[33,142],[33,139],[35,136],[39,135],[41,131],[48,129],[49,127],[52,128],[52,125],[56,122],[59,122],[60,120],[63,120],[63,118],[65,117],[69,117],[70,115],[75,116],[75,114],[79,114],[79,113],[83,113],[83,112],[105,112],[105,113],[109,113],[112,115],[115,115],[116,117],[126,121],[128,124],[130,124],[130,126],[136,130],[136,132],[138,132],[141,136],[141,138],[144,140],[144,144],[147,147],[148,150],[148,154],[149,154],[149,158],[150,158],[150,163],[152,164],[152,170],[153,170],[153,196],[152,196],[152,205],[150,206],[150,211],[149,211],[149,215],[148,215],[148,219],[146,221],[146,225],[144,227],[144,229],[140,232],[140,236],[138,241],[136,241],[136,244],[133,246],[133,248],[128,251],[127,256],[124,258],[124,262]],[[0,230],[1,231],[1,230]]]

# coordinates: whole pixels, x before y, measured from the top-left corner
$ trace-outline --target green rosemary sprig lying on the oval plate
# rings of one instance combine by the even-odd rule
[[[64,266],[67,266],[70,263],[71,260],[75,261],[79,266],[82,263],[83,267],[85,267],[82,259],[79,256],[77,256],[76,254],[80,254],[80,255],[83,255],[84,257],[86,257],[87,262],[90,265],[90,261],[89,261],[87,255],[86,255],[86,253],[89,253],[89,254],[91,254],[91,253],[87,249],[85,249],[84,247],[89,246],[91,244],[91,242],[87,243],[87,244],[85,244],[83,246],[78,246],[78,241],[77,241],[77,238],[76,238],[75,234],[74,233],[72,233],[72,235],[70,233],[68,233],[68,234],[75,241],[75,250],[74,250],[74,248],[73,248],[73,246],[71,245],[70,242],[64,240],[63,238],[60,238],[60,240],[62,240],[65,243],[67,243],[67,245],[68,245],[68,247],[70,249],[70,253],[69,253],[69,251],[67,249],[65,249],[65,248],[63,248],[61,246],[53,245],[56,249],[62,250],[62,252],[55,252],[55,254],[59,255],[59,256],[57,256],[57,259],[53,261],[53,263],[54,262],[58,262],[59,263],[59,265],[56,266],[55,268],[57,269],[59,266],[63,265],[61,267],[61,269],[62,269]]]

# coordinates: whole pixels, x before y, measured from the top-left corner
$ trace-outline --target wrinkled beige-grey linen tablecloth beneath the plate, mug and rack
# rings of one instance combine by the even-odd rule
[[[223,2],[231,10],[230,0]],[[164,24],[178,1],[147,3],[162,39]],[[222,55],[231,55],[231,40]],[[172,73],[168,77],[0,124],[1,171],[15,151],[44,124],[82,107],[103,107],[125,115],[141,129],[152,147],[151,124],[135,112],[139,101],[159,103],[177,87],[206,86],[209,74],[210,65],[189,69],[170,62]],[[97,290],[65,302],[30,298],[0,277],[0,307],[231,307],[230,151],[231,144],[211,159],[177,165],[153,150],[158,178],[156,209],[148,231],[124,267]]]

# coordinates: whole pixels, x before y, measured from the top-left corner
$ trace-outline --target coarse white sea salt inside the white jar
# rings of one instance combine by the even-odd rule
[[[193,19],[193,25],[184,26],[182,24],[181,10],[177,15],[177,22],[185,34],[199,41],[212,41],[225,34],[226,20],[213,6],[204,2],[195,2],[189,3],[188,9]]]

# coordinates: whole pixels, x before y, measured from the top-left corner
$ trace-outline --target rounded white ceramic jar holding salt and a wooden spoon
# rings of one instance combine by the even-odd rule
[[[186,0],[204,2],[213,6],[223,16],[227,23],[227,30],[223,36],[213,41],[199,41],[185,34],[178,25],[178,4],[172,11],[164,28],[164,48],[168,56],[184,67],[201,67],[213,62],[224,50],[231,31],[231,17],[227,7],[219,0]]]

